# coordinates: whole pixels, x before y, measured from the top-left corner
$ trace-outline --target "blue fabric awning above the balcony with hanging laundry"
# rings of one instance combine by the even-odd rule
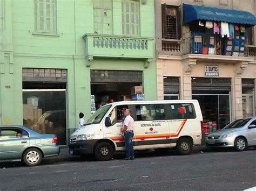
[[[183,4],[184,24],[193,20],[212,20],[218,22],[256,25],[254,15],[246,11],[213,8],[210,6]]]

